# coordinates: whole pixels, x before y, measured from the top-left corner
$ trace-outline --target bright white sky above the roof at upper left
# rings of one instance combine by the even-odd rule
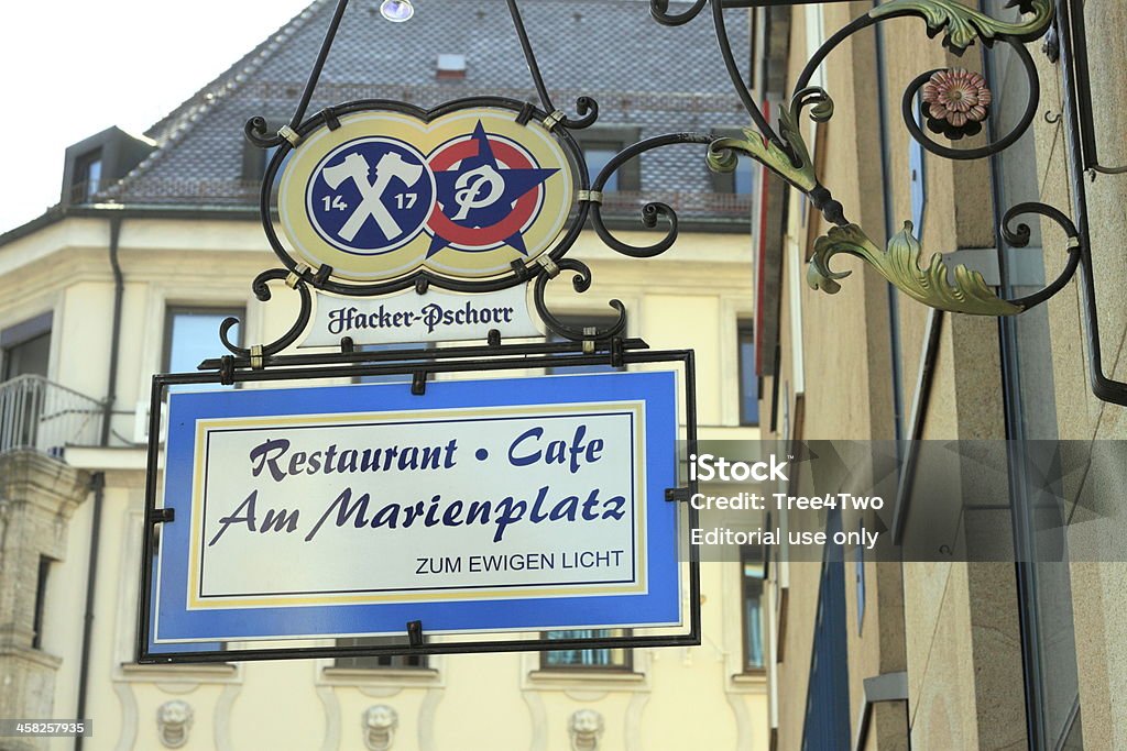
[[[66,146],[142,133],[309,2],[5,0],[0,232],[59,203]]]

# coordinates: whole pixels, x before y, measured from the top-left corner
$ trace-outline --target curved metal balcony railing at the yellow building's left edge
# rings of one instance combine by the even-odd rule
[[[96,446],[103,405],[37,375],[0,383],[0,454],[35,450],[62,458],[65,446]]]

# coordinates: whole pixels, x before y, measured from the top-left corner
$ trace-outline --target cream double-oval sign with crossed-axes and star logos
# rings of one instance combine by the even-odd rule
[[[521,110],[362,109],[304,136],[278,187],[285,236],[313,268],[385,283],[512,271],[549,250],[573,214],[564,145]]]

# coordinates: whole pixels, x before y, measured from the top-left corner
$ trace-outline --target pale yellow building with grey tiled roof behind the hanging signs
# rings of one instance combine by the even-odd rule
[[[445,100],[473,86],[531,96],[518,48],[474,46],[491,27],[470,3],[454,5],[440,38],[460,50],[461,74],[458,61],[427,56],[408,93]],[[645,11],[531,5],[568,5],[576,24],[612,16],[601,34],[615,14]],[[277,259],[252,205],[263,157],[243,143],[242,124],[263,113],[276,124],[292,108],[293,65],[304,72],[309,61],[286,51],[316,50],[309,41],[331,10],[313,2],[144,136],[110,128],[76,144],[60,205],[0,236],[0,716],[92,721],[81,740],[2,737],[0,749],[766,749],[762,580],[737,563],[701,567],[700,646],[241,662],[232,643],[228,662],[136,663],[151,378],[225,354],[215,328],[224,315],[240,319],[246,345],[277,339],[296,315],[296,295],[261,303],[250,288]],[[373,32],[363,7],[349,14],[325,96],[390,96],[387,82],[349,68],[375,45],[363,35],[387,30]],[[719,90],[592,86],[606,102],[592,153],[671,113],[703,128],[742,119],[709,109]],[[701,147],[677,163],[642,160],[606,190],[615,236],[653,242],[637,218],[653,187],[681,212],[677,244],[631,259],[586,231],[570,257],[594,285],[582,295],[566,280],[550,285],[549,306],[598,320],[613,314],[607,301],[622,301],[627,336],[695,351],[701,437],[754,439],[747,186],[717,184]]]

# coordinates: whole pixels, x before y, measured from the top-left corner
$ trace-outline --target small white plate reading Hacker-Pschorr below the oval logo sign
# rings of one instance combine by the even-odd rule
[[[541,337],[529,314],[523,287],[454,295],[436,289],[387,297],[317,295],[317,311],[299,347],[335,347],[344,337],[354,345],[486,339],[490,331],[506,338]]]

